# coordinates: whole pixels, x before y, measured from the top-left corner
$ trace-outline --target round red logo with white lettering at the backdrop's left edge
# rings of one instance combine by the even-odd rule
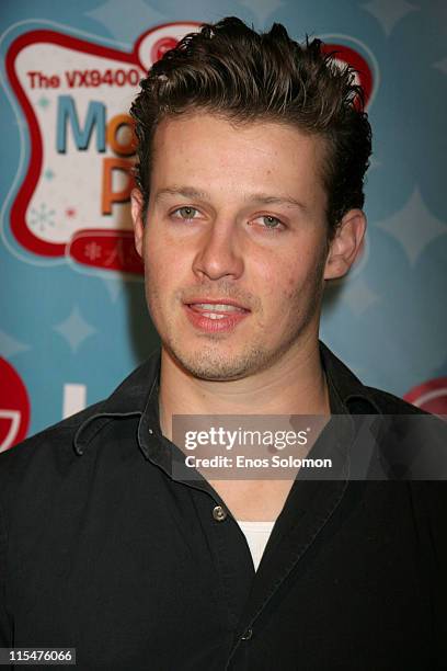
[[[26,437],[30,398],[18,372],[0,356],[0,452]]]

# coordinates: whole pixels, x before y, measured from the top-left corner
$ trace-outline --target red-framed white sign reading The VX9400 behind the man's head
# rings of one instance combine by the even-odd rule
[[[138,83],[198,23],[152,27],[126,53],[50,30],[19,36],[7,70],[26,117],[30,164],[10,215],[14,239],[77,270],[142,273],[130,232],[135,137],[128,110]],[[348,41],[345,39],[345,42]],[[373,65],[358,44],[324,49],[353,65],[368,101]]]

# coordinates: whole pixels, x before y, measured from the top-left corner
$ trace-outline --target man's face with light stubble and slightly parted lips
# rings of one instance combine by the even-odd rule
[[[318,337],[326,259],[321,140],[196,113],[163,121],[153,149],[144,226],[138,193],[133,214],[164,350],[214,380],[299,352]]]

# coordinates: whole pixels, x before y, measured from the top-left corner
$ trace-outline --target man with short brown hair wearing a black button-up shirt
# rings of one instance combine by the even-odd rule
[[[168,52],[131,113],[161,351],[1,455],[1,644],[77,648],[80,669],[445,668],[444,489],[346,471],[357,416],[417,411],[318,338],[366,227],[354,73],[226,19]],[[310,452],[340,471],[176,476],[174,416],[245,414],[324,418]]]

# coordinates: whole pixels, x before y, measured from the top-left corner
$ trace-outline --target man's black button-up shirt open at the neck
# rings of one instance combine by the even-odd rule
[[[257,572],[210,485],[172,476],[159,351],[1,454],[0,647],[76,647],[82,670],[446,669],[444,484],[343,471],[355,414],[417,411],[320,352],[346,424],[312,454],[342,470],[298,474]]]

